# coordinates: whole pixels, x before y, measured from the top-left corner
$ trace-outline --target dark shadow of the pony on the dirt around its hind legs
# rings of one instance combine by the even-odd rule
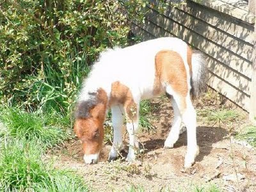
[[[200,152],[196,157],[195,161],[202,161],[205,156],[208,156],[212,150],[212,144],[223,140],[227,136],[228,132],[226,129],[221,127],[206,127],[200,126],[196,128],[196,140],[197,145],[200,148]],[[143,142],[144,147],[147,151],[156,150],[157,148],[163,148],[164,139],[148,140]],[[179,148],[187,145],[187,131],[183,132],[179,136],[179,140],[174,144],[173,148]]]

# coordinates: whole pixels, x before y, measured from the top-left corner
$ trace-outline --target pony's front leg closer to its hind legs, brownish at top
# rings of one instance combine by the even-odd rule
[[[139,143],[136,138],[139,125],[139,104],[131,104],[126,108],[126,129],[129,134],[129,152],[127,154],[127,161],[134,161],[136,153],[139,148]]]

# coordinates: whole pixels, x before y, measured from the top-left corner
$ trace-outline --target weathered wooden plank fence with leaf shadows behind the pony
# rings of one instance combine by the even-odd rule
[[[255,17],[248,12],[248,1],[188,0],[161,13],[158,4],[148,4],[145,24],[133,23],[133,32],[143,40],[177,36],[200,49],[207,58],[209,86],[256,116],[256,100],[251,97],[256,90]]]

